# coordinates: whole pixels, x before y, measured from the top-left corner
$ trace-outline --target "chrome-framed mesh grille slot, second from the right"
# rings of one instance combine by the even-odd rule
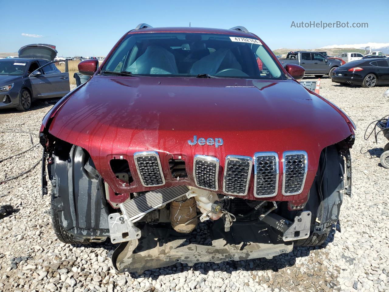
[[[279,160],[275,152],[254,153],[254,197],[274,197],[278,192]]]

